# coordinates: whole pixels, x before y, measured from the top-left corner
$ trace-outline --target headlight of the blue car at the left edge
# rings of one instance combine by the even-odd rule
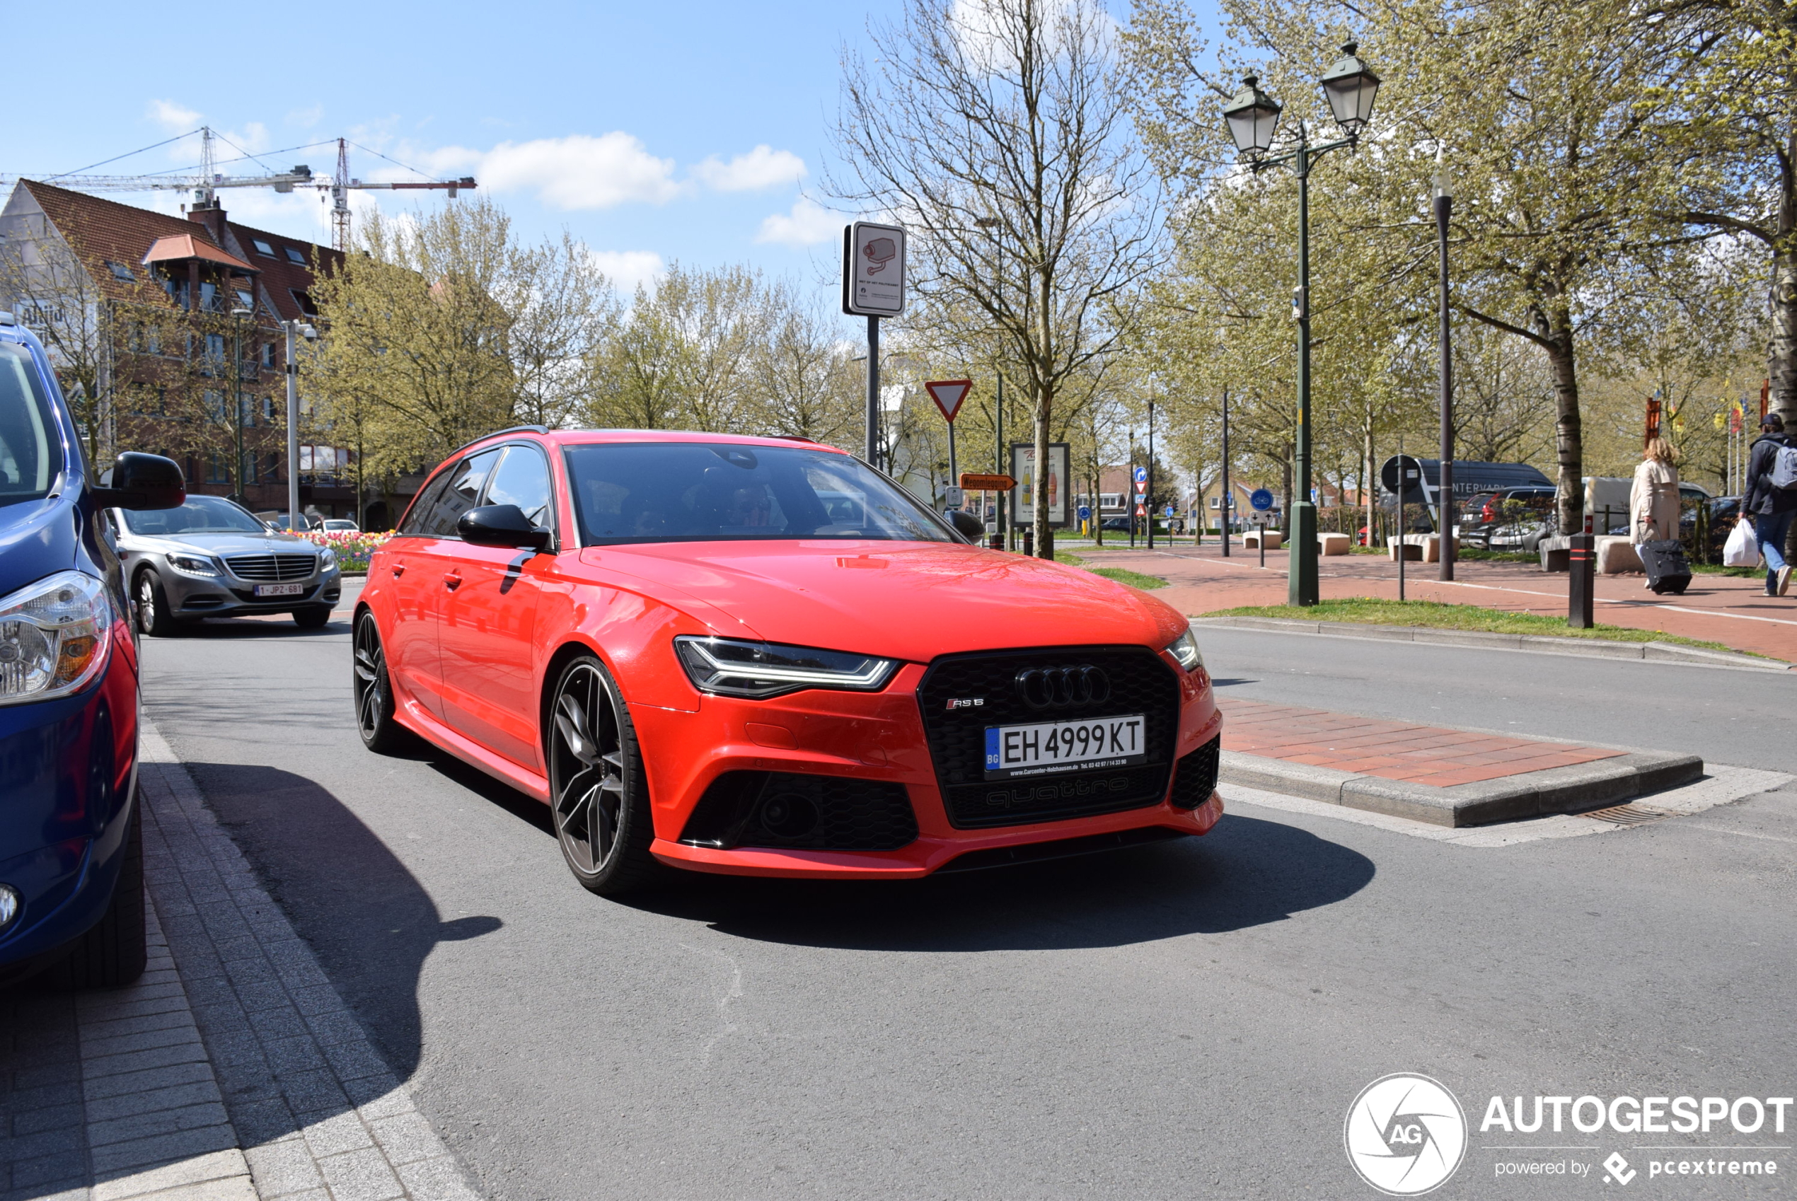
[[[111,623],[106,585],[81,571],[0,596],[0,706],[86,686],[106,662]]]

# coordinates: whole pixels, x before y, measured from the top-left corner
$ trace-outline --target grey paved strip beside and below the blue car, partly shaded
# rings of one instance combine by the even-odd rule
[[[147,722],[151,969],[0,993],[0,1201],[473,1201]]]

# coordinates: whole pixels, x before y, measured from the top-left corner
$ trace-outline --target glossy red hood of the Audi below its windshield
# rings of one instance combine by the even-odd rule
[[[1005,646],[1164,646],[1170,605],[1078,567],[942,542],[661,542],[580,551],[613,580],[771,643],[929,662]]]

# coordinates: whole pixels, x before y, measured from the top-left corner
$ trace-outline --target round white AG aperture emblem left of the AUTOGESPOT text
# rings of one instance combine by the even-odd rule
[[[1414,1197],[1447,1183],[1466,1158],[1466,1111],[1439,1081],[1396,1072],[1353,1099],[1342,1144],[1360,1179]]]

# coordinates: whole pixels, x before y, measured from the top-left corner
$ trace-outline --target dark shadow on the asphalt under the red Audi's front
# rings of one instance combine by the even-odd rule
[[[1373,862],[1281,822],[1226,815],[1204,838],[915,881],[695,876],[645,910],[744,939],[891,951],[1066,950],[1224,934],[1342,901]]]

